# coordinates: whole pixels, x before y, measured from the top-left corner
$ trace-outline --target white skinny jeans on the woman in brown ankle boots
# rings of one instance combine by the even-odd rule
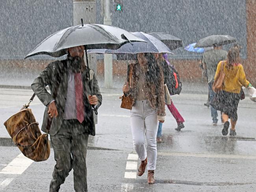
[[[152,109],[148,100],[136,101],[130,111],[133,144],[141,161],[148,158],[148,170],[156,169],[156,133],[158,130],[157,109]],[[145,148],[145,135],[147,151]]]

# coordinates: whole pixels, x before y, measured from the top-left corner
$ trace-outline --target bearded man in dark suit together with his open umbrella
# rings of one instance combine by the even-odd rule
[[[46,106],[42,131],[50,134],[56,165],[50,192],[58,192],[74,170],[74,189],[87,192],[86,152],[88,136],[95,135],[97,109],[102,96],[94,71],[88,67],[87,48],[117,49],[125,43],[142,41],[113,26],[100,24],[72,26],[50,35],[25,58],[38,54],[67,59],[50,63],[31,87]],[[84,62],[84,50],[87,65]],[[49,86],[50,92],[45,89]]]

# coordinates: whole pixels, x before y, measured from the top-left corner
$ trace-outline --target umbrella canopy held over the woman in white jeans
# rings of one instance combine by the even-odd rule
[[[111,49],[92,49],[87,53],[97,54],[138,54],[138,53],[172,53],[171,50],[160,40],[143,32],[133,32],[133,35],[143,39],[147,44],[143,42],[126,43],[117,50]],[[132,55],[131,55],[132,56]],[[126,58],[128,59],[128,58]]]

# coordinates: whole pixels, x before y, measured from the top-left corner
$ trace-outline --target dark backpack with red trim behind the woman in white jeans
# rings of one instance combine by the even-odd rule
[[[179,95],[182,90],[180,75],[173,66],[168,65],[165,61],[163,62],[163,76],[170,95]]]

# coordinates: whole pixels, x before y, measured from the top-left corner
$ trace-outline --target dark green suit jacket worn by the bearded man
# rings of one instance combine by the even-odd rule
[[[47,105],[55,100],[56,107],[58,110],[58,116],[52,119],[52,124],[50,127],[50,135],[55,135],[63,122],[64,109],[67,100],[67,86],[68,86],[68,70],[67,65],[69,61],[54,61],[50,63],[33,81],[31,87],[39,100],[46,106],[42,131],[46,132],[46,124],[48,122],[48,107]],[[98,105],[94,106],[98,109],[102,103],[102,95],[100,94],[100,89],[98,87],[98,81],[95,77],[93,70],[89,69],[87,66],[82,72],[83,81],[83,98],[85,106],[85,120],[83,122],[84,132],[88,132],[90,135],[95,135],[95,123],[96,115],[93,112],[93,107],[89,104],[88,96],[96,95],[98,98]],[[46,90],[46,86],[49,86],[50,93]]]

